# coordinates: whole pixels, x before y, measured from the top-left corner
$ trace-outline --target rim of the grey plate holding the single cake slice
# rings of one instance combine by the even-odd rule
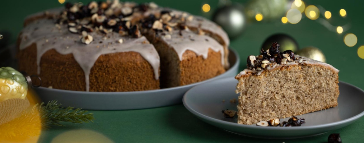
[[[232,80],[232,78],[222,78],[222,79],[218,79],[214,82],[217,81],[225,81],[225,80]],[[343,83],[343,84],[347,84],[351,87],[354,87],[356,89],[358,89],[359,91],[363,92],[364,94],[364,90],[360,89],[359,87],[356,87],[352,84],[349,84],[347,82],[343,82],[341,80],[339,80],[339,83]],[[326,123],[326,124],[319,124],[319,125],[311,125],[311,126],[300,126],[300,127],[290,127],[290,128],[267,128],[267,127],[261,127],[261,126],[251,126],[251,125],[245,125],[245,124],[238,124],[238,123],[233,123],[233,122],[227,122],[224,120],[219,120],[219,119],[215,119],[212,118],[210,116],[207,115],[203,115],[197,111],[195,111],[193,108],[191,108],[187,103],[186,103],[186,96],[188,96],[187,94],[189,94],[189,92],[191,92],[192,90],[194,90],[195,88],[198,88],[199,86],[202,86],[204,84],[209,84],[209,83],[203,83],[200,85],[197,85],[193,88],[191,88],[190,90],[188,90],[185,95],[183,95],[183,99],[182,99],[182,103],[185,106],[185,108],[187,108],[188,111],[190,111],[192,114],[194,114],[195,116],[205,119],[205,120],[209,120],[210,122],[214,122],[214,123],[218,123],[218,124],[222,124],[222,125],[227,125],[227,126],[237,126],[239,128],[246,128],[246,129],[265,129],[265,130],[272,130],[272,131],[278,131],[278,130],[311,130],[311,129],[318,129],[318,128],[327,128],[327,127],[332,127],[332,126],[337,126],[337,125],[341,125],[341,124],[345,124],[345,123],[350,123],[353,122],[357,119],[359,119],[360,117],[362,117],[364,115],[364,110],[362,112],[360,112],[359,114],[352,116],[348,119],[344,119],[344,120],[340,120],[337,122],[332,122],[332,123]]]

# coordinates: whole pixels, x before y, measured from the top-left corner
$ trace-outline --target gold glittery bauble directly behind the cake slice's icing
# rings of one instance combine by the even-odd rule
[[[326,63],[324,53],[316,47],[305,47],[297,51],[295,54]]]

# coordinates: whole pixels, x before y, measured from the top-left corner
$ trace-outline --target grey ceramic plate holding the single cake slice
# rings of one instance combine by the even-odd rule
[[[235,93],[237,80],[225,78],[200,84],[191,88],[183,96],[183,104],[199,119],[224,130],[257,138],[303,138],[324,134],[345,127],[364,115],[364,91],[351,84],[340,82],[339,105],[335,108],[297,116],[305,118],[306,124],[300,127],[260,127],[237,124],[237,119],[224,118],[221,111],[237,110]],[[225,102],[222,102],[225,100]],[[281,119],[281,122],[289,118]]]

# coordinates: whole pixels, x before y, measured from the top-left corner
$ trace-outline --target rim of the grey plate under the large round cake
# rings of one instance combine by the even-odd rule
[[[233,70],[235,68],[238,68],[238,66],[240,65],[240,56],[237,53],[237,51],[235,49],[233,49],[233,48],[229,48],[229,50],[232,53],[234,53],[234,55],[236,57],[236,61],[235,61],[234,65],[231,66],[227,71],[231,71],[231,70]],[[227,71],[225,71],[224,73],[226,73]],[[52,92],[63,92],[63,93],[66,93],[66,94],[67,93],[72,93],[72,94],[89,94],[89,95],[99,95],[99,94],[106,94],[106,95],[117,95],[117,94],[147,94],[147,93],[156,93],[156,92],[166,92],[166,91],[177,90],[177,89],[187,88],[187,87],[195,87],[196,85],[201,84],[202,82],[207,83],[207,82],[210,82],[212,80],[218,80],[219,76],[220,75],[215,76],[215,77],[210,78],[210,79],[207,79],[207,80],[203,80],[201,82],[187,84],[187,85],[184,85],[184,86],[169,87],[169,88],[162,88],[162,89],[155,89],[155,90],[145,90],[145,91],[95,92],[95,91],[60,90],[60,89],[56,89],[56,88],[47,88],[47,87],[38,87],[38,89],[40,89],[40,90],[46,90],[46,91],[52,91]]]

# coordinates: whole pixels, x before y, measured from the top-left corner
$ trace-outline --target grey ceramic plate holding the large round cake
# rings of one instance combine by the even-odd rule
[[[132,110],[170,106],[181,103],[183,94],[198,84],[237,75],[240,63],[239,59],[240,58],[236,51],[230,49],[229,61],[231,67],[225,73],[202,82],[160,90],[133,92],[84,92],[44,87],[35,88],[34,90],[44,102],[58,100],[58,103],[62,103],[63,106],[83,108],[87,110]]]

